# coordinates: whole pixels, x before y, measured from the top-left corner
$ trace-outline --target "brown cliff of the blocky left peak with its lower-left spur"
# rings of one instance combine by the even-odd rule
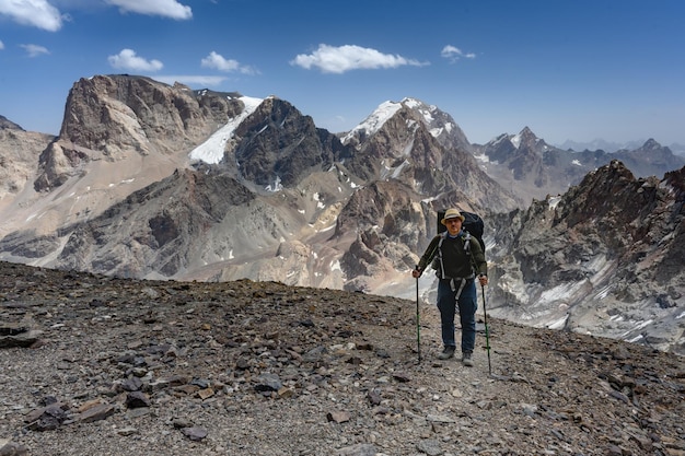
[[[143,77],[81,79],[69,92],[58,141],[40,155],[35,188],[58,187],[91,161],[187,153],[242,108],[230,94]]]

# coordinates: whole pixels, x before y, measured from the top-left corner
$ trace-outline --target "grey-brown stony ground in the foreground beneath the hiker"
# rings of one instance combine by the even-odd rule
[[[0,262],[0,455],[685,455],[682,358],[420,312],[419,363],[414,301]]]

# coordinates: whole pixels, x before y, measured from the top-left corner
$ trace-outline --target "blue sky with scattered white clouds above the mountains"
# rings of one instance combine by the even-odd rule
[[[94,74],[276,95],[332,132],[411,96],[468,140],[685,143],[681,0],[0,0],[0,115],[58,133]]]

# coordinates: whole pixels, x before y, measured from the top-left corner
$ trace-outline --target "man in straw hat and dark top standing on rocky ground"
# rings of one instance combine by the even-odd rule
[[[488,266],[485,254],[476,238],[462,230],[464,215],[456,209],[448,209],[440,221],[446,226],[446,233],[439,234],[430,242],[417,269],[411,276],[418,279],[423,270],[436,256],[440,265],[438,276],[438,308],[440,309],[440,323],[442,326],[442,353],[441,360],[454,356],[456,341],[454,338],[454,314],[458,304],[460,320],[462,324],[462,363],[466,366],[474,365],[472,354],[476,343],[476,308],[478,296],[476,294],[475,278],[478,277],[480,285],[488,283]]]

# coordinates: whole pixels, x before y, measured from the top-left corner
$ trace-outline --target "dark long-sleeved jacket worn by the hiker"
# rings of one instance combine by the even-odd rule
[[[448,278],[464,278],[469,277],[472,273],[476,276],[488,274],[488,264],[485,260],[485,254],[478,241],[471,236],[468,241],[468,250],[464,248],[466,244],[467,233],[462,231],[456,237],[451,237],[445,234],[442,246],[442,265],[444,267],[444,276]],[[431,264],[433,258],[438,255],[438,246],[442,235],[433,237],[428,245],[428,248],[419,260],[418,269],[423,271],[428,265]],[[438,271],[438,276],[441,277],[441,271]]]

